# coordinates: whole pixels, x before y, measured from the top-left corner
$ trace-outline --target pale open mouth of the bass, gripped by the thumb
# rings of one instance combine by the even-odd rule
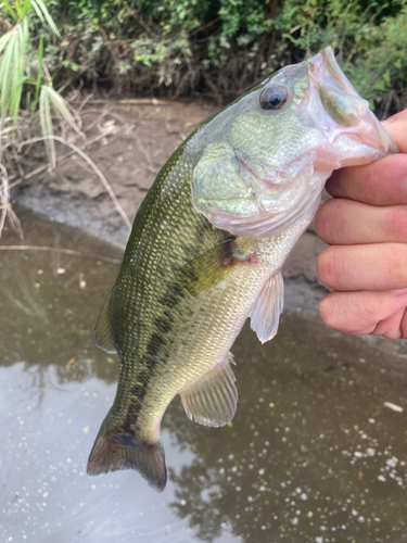
[[[331,47],[317,53],[307,63],[310,88],[315,101],[319,102],[315,122],[327,127],[327,136],[332,143],[336,139],[348,140],[348,144],[352,141],[363,143],[371,148],[372,160],[399,152],[370,111],[369,102],[356,92],[342,72]],[[348,164],[343,163],[354,164],[357,164],[355,157]]]

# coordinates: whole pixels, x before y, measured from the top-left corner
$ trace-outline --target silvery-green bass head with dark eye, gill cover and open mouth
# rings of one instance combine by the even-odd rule
[[[398,152],[331,48],[280,70],[196,137],[194,209],[217,228],[254,238],[309,222],[333,169]]]

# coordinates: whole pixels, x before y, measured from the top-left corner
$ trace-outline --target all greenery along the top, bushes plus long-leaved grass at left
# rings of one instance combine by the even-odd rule
[[[0,233],[9,159],[78,152],[67,87],[220,103],[328,45],[379,117],[407,106],[407,0],[0,0]]]

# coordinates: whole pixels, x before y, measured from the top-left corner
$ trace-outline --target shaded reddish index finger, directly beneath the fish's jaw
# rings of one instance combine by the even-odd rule
[[[393,154],[366,166],[336,169],[327,191],[371,205],[407,203],[407,154]]]

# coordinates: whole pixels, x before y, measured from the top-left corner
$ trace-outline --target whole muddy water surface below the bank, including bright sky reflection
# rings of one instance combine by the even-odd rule
[[[131,471],[88,478],[118,370],[91,341],[118,272],[101,257],[120,253],[29,215],[23,226],[26,243],[86,256],[0,252],[1,541],[407,541],[407,357],[301,314],[263,346],[241,333],[229,427],[173,402],[163,494]]]

